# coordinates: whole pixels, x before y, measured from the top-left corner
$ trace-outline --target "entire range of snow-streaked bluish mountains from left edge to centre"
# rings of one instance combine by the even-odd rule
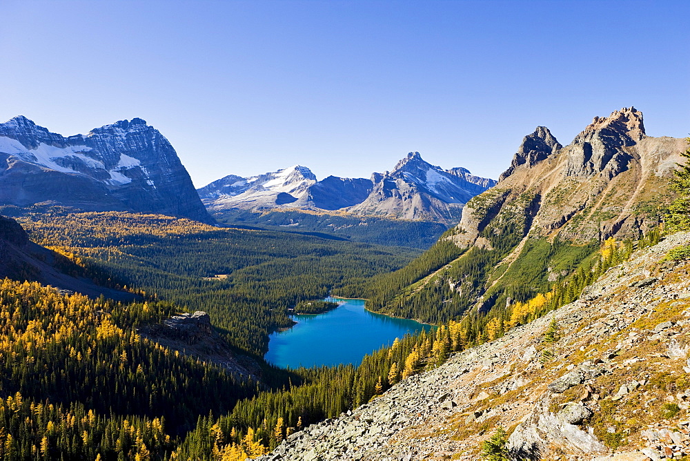
[[[392,172],[318,181],[304,166],[228,175],[195,192],[175,149],[134,118],[64,137],[26,117],[0,124],[0,204],[161,213],[213,223],[228,210],[337,211],[456,224],[464,204],[495,184],[464,168],[443,170],[410,153]],[[203,199],[203,203],[199,197]],[[224,215],[226,216],[226,215]]]

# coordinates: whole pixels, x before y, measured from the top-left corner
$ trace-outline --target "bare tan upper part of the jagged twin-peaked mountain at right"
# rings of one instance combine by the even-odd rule
[[[671,202],[668,180],[686,147],[684,139],[645,135],[635,108],[595,117],[565,147],[538,127],[524,138],[497,186],[467,204],[475,211],[464,213],[458,226],[464,237],[457,240],[460,246],[473,244],[469,237],[476,239],[486,226],[485,204],[499,190],[506,197],[491,219],[529,215],[525,236],[558,235],[578,243],[637,238],[658,223],[660,204]]]

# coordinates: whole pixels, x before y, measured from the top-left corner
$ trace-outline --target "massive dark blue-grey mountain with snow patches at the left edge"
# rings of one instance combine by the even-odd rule
[[[0,204],[41,202],[213,221],[168,139],[139,118],[70,137],[23,116],[0,124]]]

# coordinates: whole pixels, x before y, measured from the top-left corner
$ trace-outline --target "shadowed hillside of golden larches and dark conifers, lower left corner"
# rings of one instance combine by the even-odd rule
[[[255,392],[136,333],[175,312],[171,304],[90,300],[9,279],[0,300],[3,459],[164,455],[198,415],[230,411]]]

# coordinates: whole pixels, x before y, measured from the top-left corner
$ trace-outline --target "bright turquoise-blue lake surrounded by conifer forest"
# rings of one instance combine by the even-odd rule
[[[364,355],[393,344],[396,337],[433,328],[369,312],[364,300],[335,301],[344,304],[322,314],[294,315],[295,326],[271,334],[266,361],[283,368],[357,365]]]

